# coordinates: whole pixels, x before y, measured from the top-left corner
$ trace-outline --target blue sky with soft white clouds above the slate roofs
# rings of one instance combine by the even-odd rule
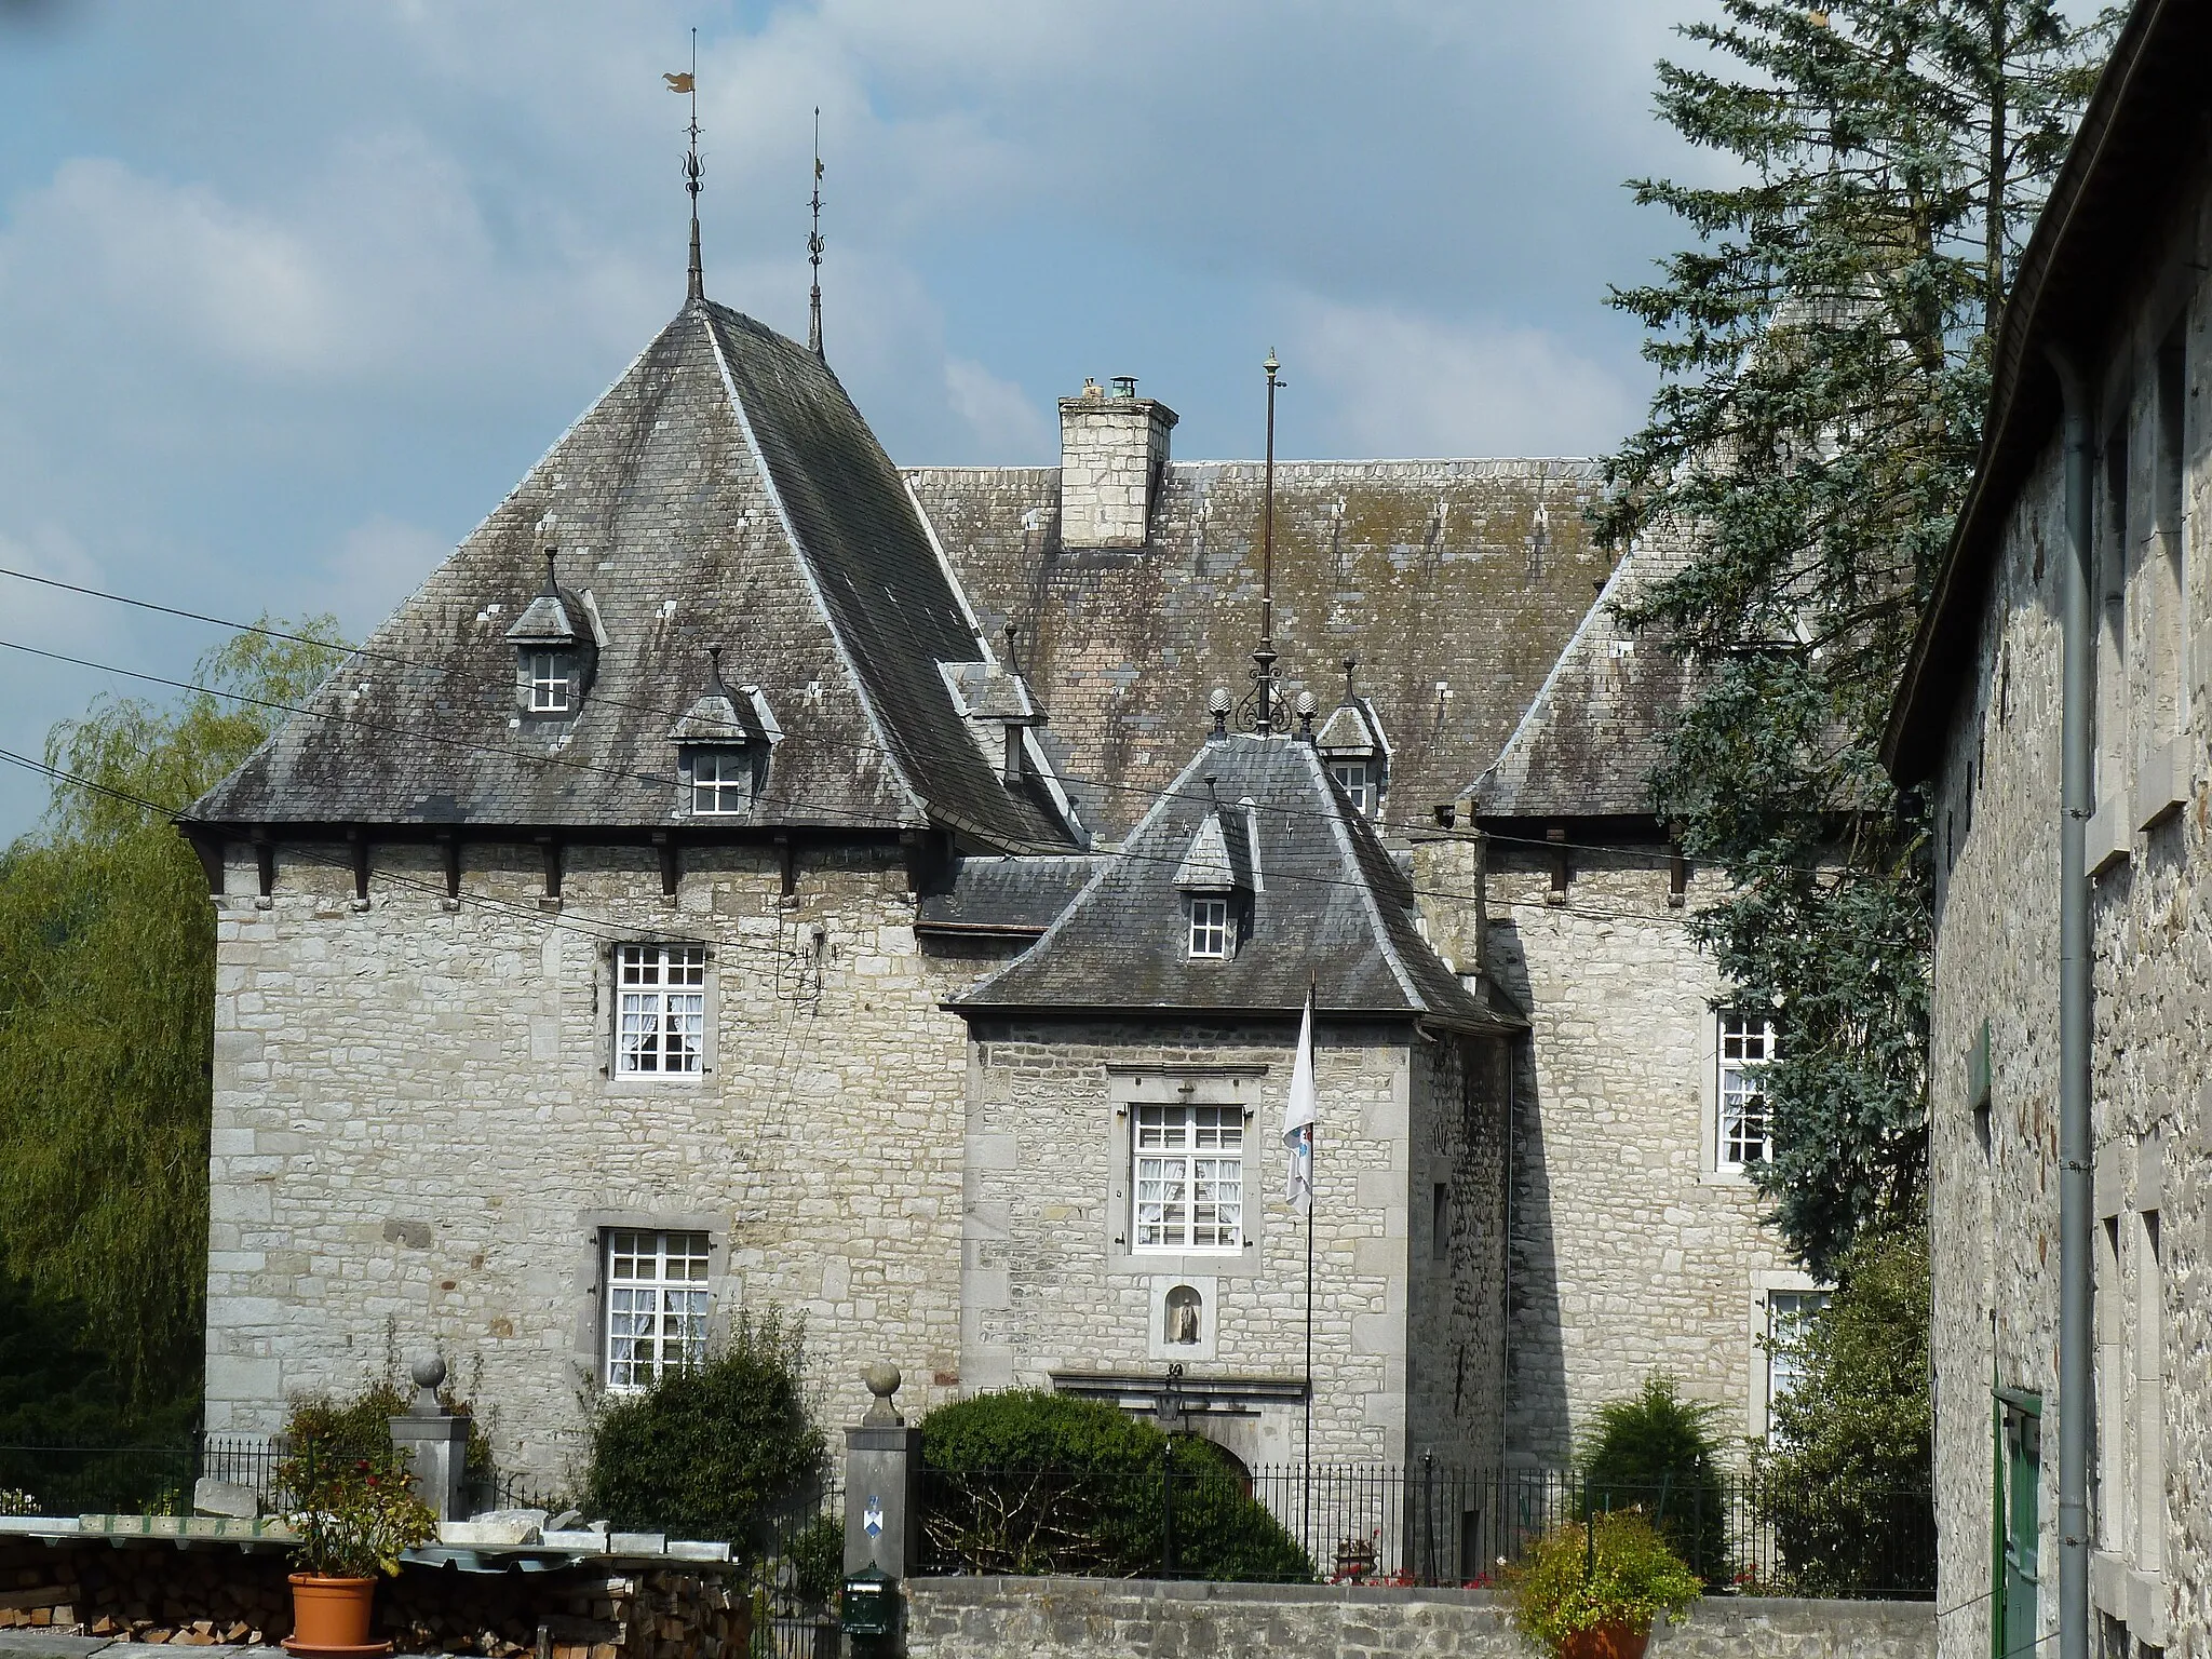
[[[825,345],[891,458],[1051,462],[1139,376],[1179,458],[1586,456],[1608,283],[1699,177],[1708,0],[0,0],[0,568],[380,622],[684,299]],[[221,628],[0,575],[0,641],[186,679]],[[0,648],[0,748],[159,686]],[[44,781],[0,765],[0,841]]]

